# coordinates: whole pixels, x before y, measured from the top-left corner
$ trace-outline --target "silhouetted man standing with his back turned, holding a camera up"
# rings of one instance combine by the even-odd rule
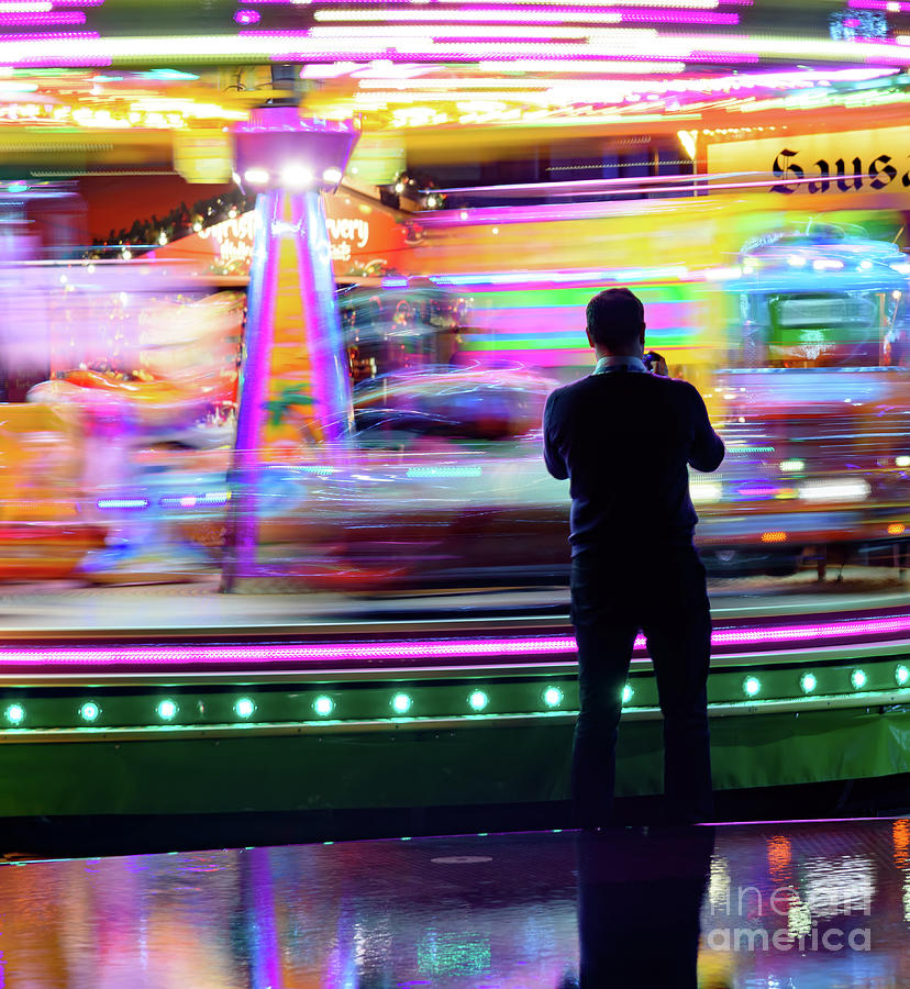
[[[693,386],[666,377],[663,359],[648,373],[644,308],[629,289],[591,299],[587,333],[593,374],[554,391],[544,411],[544,459],[554,477],[569,478],[571,494],[577,824],[611,822],[622,691],[639,630],[664,714],[667,818],[706,820],[711,616],[687,465],[717,470],[723,442]]]

